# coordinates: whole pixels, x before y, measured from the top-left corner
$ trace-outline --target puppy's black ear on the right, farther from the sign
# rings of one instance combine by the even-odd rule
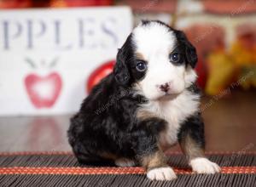
[[[183,45],[187,62],[192,68],[195,68],[197,62],[195,47],[191,44],[191,42],[189,42],[183,31],[177,31],[177,40]]]

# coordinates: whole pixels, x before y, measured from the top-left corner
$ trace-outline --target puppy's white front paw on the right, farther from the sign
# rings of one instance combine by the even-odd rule
[[[218,164],[209,161],[207,158],[195,158],[192,159],[189,164],[196,173],[213,174],[219,173],[221,170]]]

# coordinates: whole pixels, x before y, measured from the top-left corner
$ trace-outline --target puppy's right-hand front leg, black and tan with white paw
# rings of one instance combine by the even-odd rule
[[[205,157],[204,124],[200,114],[190,117],[189,120],[183,124],[178,134],[178,141],[194,172],[220,172],[220,167]]]

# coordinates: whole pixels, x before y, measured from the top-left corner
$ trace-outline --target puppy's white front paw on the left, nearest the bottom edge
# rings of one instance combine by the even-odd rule
[[[158,167],[148,171],[147,177],[151,180],[172,180],[177,178],[171,167]]]

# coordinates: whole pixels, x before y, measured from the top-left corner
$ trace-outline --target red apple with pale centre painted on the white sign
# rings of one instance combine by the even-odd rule
[[[26,92],[36,108],[50,108],[61,93],[61,77],[52,72],[46,77],[30,74],[25,78]]]

